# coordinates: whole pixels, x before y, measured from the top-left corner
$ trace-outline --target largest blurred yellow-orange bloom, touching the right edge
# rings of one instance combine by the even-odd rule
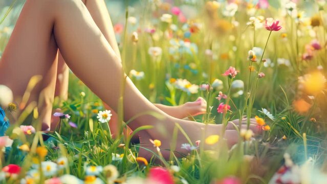
[[[317,95],[326,86],[326,78],[321,72],[312,72],[299,77],[299,88],[303,89],[308,95]]]

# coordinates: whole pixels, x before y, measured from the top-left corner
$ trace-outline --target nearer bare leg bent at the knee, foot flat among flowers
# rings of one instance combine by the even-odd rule
[[[57,55],[57,45],[75,75],[117,110],[123,76],[119,57],[80,0],[27,0],[2,57],[0,83],[15,90],[16,97],[21,96],[31,76],[38,74],[46,79]],[[17,72],[17,65],[26,66],[19,70],[19,76],[13,74]],[[31,65],[35,67],[25,70]],[[37,97],[43,88],[40,86],[40,90],[33,96]],[[165,117],[158,120],[146,115],[129,124],[132,129],[143,125],[154,126],[151,130],[139,133],[141,146],[149,149],[153,149],[149,139],[159,139],[162,141],[162,149],[169,149],[170,133],[173,132],[175,123],[184,129],[192,142],[202,138],[202,129],[206,130],[204,136],[220,134],[222,130],[220,125],[208,125],[205,128],[201,123],[168,116],[150,103],[129,78],[126,78],[123,99],[125,121],[145,111],[154,111]],[[236,131],[229,130],[225,135],[235,135],[229,139],[230,144],[237,141]],[[187,139],[180,132],[177,138],[176,151],[185,153],[180,145],[187,143]],[[163,151],[163,154],[167,158],[169,151]],[[141,149],[140,155],[149,157],[151,154]]]

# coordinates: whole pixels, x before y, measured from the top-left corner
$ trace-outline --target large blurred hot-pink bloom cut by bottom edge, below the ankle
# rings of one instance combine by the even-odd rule
[[[149,170],[148,179],[150,182],[160,184],[173,184],[173,178],[169,171],[162,167],[152,167]]]

